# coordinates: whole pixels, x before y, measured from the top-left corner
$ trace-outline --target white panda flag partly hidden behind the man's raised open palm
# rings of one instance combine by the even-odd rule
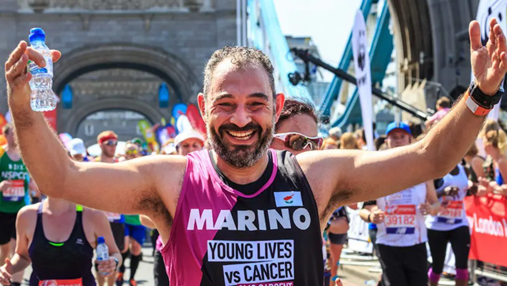
[[[505,14],[507,10],[507,0],[480,0],[477,8],[476,20],[480,24],[480,40],[482,45],[486,45],[490,34],[490,20],[496,18],[503,31],[507,31],[507,21]],[[473,71],[471,73],[472,81],[474,80]],[[503,81],[502,81],[503,85]],[[488,114],[488,118],[498,120],[500,116],[500,103]]]

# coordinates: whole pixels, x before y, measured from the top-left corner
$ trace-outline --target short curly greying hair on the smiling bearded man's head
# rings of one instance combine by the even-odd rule
[[[274,100],[276,90],[274,87],[274,68],[271,64],[271,61],[269,60],[268,56],[262,53],[261,50],[257,48],[242,46],[225,46],[213,53],[211,58],[208,60],[208,63],[206,63],[206,67],[204,68],[204,96],[208,96],[215,69],[219,63],[226,59],[231,59],[231,62],[238,69],[244,69],[248,66],[263,67],[269,75],[269,85],[271,87],[271,91],[273,92]]]

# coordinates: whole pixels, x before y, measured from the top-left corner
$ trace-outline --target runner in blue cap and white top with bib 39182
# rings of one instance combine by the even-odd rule
[[[411,133],[407,124],[392,122],[387,125],[386,143],[389,148],[410,144]],[[367,218],[377,224],[377,250],[382,266],[384,286],[423,286],[426,274],[427,232],[424,216],[440,209],[433,181],[407,188],[376,200],[376,205],[365,206],[371,211]]]

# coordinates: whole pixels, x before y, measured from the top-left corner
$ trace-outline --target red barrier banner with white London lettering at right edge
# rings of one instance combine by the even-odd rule
[[[470,259],[507,267],[507,199],[489,194],[465,198],[470,225]]]

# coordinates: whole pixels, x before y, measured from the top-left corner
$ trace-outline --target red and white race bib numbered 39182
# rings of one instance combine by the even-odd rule
[[[416,205],[388,205],[384,224],[388,234],[411,235],[416,229]]]

